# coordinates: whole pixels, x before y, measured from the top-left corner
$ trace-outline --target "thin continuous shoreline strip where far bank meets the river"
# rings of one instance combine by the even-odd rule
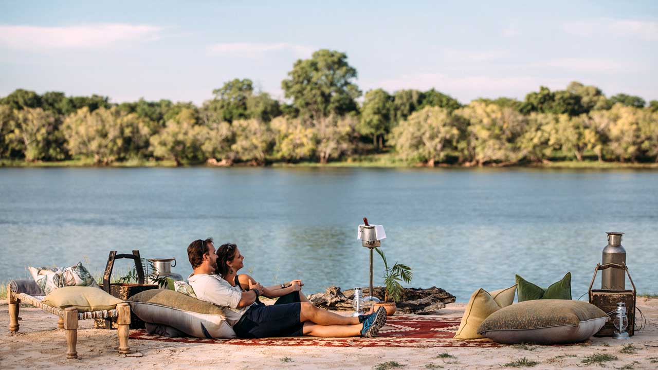
[[[317,162],[299,162],[284,163],[272,162],[265,165],[253,165],[251,163],[236,163],[232,166],[215,166],[207,164],[182,165],[176,166],[174,161],[123,161],[115,162],[110,165],[95,165],[93,161],[87,159],[72,159],[68,161],[52,162],[25,162],[20,160],[0,159],[0,169],[2,168],[98,168],[98,169],[116,169],[116,168],[245,168],[245,167],[271,167],[271,168],[380,168],[380,169],[573,169],[573,170],[658,170],[658,163],[625,163],[625,162],[598,162],[598,161],[555,161],[547,163],[527,163],[517,165],[483,165],[483,166],[465,166],[465,165],[447,165],[440,164],[434,167],[428,167],[422,163],[408,163],[403,161],[336,161],[329,163]]]

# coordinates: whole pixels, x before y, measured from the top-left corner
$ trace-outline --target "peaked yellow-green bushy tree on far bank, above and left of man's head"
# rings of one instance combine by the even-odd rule
[[[156,158],[173,159],[177,166],[201,163],[207,159],[201,147],[208,136],[208,128],[197,124],[197,112],[182,108],[166,121],[163,130],[151,136],[151,151]]]

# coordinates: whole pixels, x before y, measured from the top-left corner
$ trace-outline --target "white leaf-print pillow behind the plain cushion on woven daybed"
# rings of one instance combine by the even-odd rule
[[[98,288],[96,280],[91,277],[89,271],[78,262],[77,265],[58,269],[57,267],[28,267],[34,281],[43,290],[43,294],[50,294],[57,288],[64,286],[93,286]]]

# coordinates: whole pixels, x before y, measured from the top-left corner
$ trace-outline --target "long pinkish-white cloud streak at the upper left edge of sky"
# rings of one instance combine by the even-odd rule
[[[101,49],[132,41],[153,41],[162,28],[147,24],[89,24],[43,27],[0,25],[0,45],[9,49]]]

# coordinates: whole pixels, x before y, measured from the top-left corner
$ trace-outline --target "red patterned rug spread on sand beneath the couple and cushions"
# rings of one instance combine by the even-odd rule
[[[315,338],[295,336],[263,339],[166,338],[137,330],[132,339],[163,342],[234,344],[236,346],[320,346],[320,347],[500,347],[488,339],[453,340],[459,329],[460,317],[389,317],[377,338]]]

